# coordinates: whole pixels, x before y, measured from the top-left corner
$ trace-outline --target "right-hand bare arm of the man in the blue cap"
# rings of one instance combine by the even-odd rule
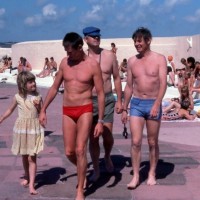
[[[117,93],[117,103],[116,103],[116,112],[119,114],[122,112],[122,84],[119,76],[119,67],[116,56],[113,55],[113,79],[115,85],[115,91]]]

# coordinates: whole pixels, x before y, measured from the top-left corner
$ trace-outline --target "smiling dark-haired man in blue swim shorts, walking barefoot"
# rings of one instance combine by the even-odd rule
[[[122,122],[127,122],[130,102],[131,159],[133,177],[128,189],[139,185],[141,144],[146,124],[149,144],[150,169],[147,184],[156,184],[156,166],[159,158],[158,135],[162,116],[162,99],[167,87],[165,56],[150,50],[151,32],[138,28],[132,36],[137,55],[128,60],[127,84],[124,91]]]

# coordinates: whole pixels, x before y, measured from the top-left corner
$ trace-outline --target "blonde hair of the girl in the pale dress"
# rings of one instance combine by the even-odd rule
[[[29,71],[22,71],[17,76],[17,86],[19,90],[19,94],[25,99],[27,97],[27,88],[26,84],[28,81],[35,81],[35,75]],[[34,95],[38,95],[37,88],[33,92]]]

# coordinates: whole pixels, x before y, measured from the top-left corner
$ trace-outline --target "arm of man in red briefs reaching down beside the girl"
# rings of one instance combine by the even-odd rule
[[[47,123],[47,118],[46,118],[46,109],[49,106],[49,104],[53,101],[53,99],[55,98],[58,88],[60,86],[60,84],[63,81],[63,73],[62,73],[62,67],[59,67],[59,70],[57,72],[57,75],[55,77],[54,83],[53,85],[50,87],[47,96],[44,100],[43,106],[41,108],[40,111],[40,116],[39,116],[39,120],[42,126],[45,126]]]

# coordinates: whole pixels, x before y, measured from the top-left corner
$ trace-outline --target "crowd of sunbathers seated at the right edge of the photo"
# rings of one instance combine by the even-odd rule
[[[168,86],[175,87],[178,97],[163,100],[163,120],[187,119],[194,120],[200,117],[194,111],[194,103],[200,94],[200,62],[194,57],[181,58],[181,67],[173,63],[173,56],[168,56],[167,72]]]

